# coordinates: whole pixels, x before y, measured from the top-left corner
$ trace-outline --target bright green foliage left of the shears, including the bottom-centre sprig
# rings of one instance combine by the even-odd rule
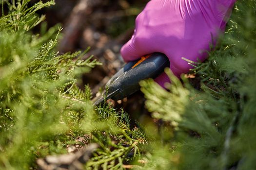
[[[100,63],[93,56],[82,59],[88,50],[56,52],[60,28],[43,35],[30,32],[44,19],[36,12],[54,0],[32,7],[30,0],[4,2],[8,14],[0,17],[0,169],[36,168],[37,158],[67,153],[67,146],[85,134],[93,136],[87,143],[100,146],[87,168],[122,167],[125,155],[145,139],[138,128],[129,127],[126,113],[107,106],[95,110],[90,88],[81,91],[77,86],[81,73]],[[107,165],[116,160],[119,164]]]

